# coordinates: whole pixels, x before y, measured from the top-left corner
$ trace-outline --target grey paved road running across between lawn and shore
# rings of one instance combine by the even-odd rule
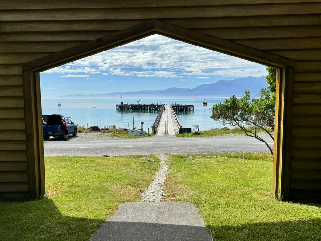
[[[273,141],[265,137],[270,146]],[[171,135],[140,139],[84,140],[69,137],[69,141],[45,141],[45,156],[130,156],[149,154],[197,154],[231,152],[269,152],[263,142],[245,135],[206,138],[178,138]]]

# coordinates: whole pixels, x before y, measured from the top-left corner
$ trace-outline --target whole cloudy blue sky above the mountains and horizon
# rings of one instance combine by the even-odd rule
[[[267,75],[265,66],[160,35],[110,49],[40,74],[42,98],[170,87],[195,88]]]

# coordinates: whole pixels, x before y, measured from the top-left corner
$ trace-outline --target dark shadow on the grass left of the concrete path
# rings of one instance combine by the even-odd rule
[[[54,202],[0,201],[0,239],[88,240],[105,220],[65,216]]]

